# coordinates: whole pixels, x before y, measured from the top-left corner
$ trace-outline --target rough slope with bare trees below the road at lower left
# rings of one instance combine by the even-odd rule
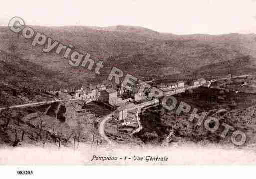
[[[56,149],[77,149],[80,142],[98,145],[101,138],[96,131],[101,116],[86,109],[78,113],[74,109],[76,104],[51,103],[0,111],[0,145],[44,147],[55,144]]]

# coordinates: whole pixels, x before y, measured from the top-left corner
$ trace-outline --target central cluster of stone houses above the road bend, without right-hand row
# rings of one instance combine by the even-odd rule
[[[144,82],[145,83],[145,82]],[[130,94],[130,96],[124,97],[124,93],[128,90],[125,89],[122,85],[112,85],[110,88],[107,88],[104,85],[97,86],[97,88],[81,88],[75,91],[74,99],[85,100],[86,103],[91,101],[100,101],[105,104],[116,107],[114,116],[118,120],[127,119],[128,113],[136,113],[135,111],[141,108],[145,108],[152,105],[158,105],[158,99],[153,99],[152,101],[141,101],[147,96],[143,91],[139,91],[141,84],[137,84]],[[135,101],[140,101],[135,104]]]

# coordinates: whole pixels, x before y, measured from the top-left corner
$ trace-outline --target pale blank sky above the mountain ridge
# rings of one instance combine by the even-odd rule
[[[134,25],[175,34],[256,33],[256,0],[2,0],[0,25]]]

